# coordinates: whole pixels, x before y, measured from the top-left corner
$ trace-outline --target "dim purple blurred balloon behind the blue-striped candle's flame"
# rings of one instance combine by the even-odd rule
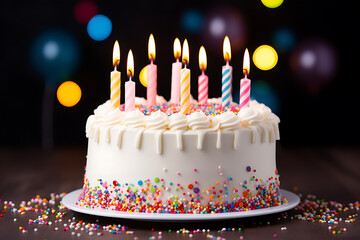
[[[215,7],[205,15],[203,42],[206,49],[221,49],[225,36],[229,36],[231,50],[236,53],[244,48],[246,42],[246,24],[243,16],[236,9]]]

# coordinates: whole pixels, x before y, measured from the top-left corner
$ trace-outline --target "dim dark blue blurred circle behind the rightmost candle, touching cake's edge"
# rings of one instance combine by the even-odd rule
[[[280,113],[280,99],[278,93],[264,81],[251,81],[250,97],[268,106],[274,113]]]

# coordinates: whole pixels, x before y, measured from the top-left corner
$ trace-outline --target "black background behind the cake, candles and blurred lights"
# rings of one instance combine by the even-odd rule
[[[45,82],[34,70],[30,52],[34,39],[42,32],[62,29],[79,44],[81,57],[76,71],[54,86],[57,88],[65,80],[74,81],[81,87],[82,98],[74,107],[66,108],[54,95],[53,129],[55,146],[85,146],[86,119],[109,98],[115,40],[119,41],[121,48],[122,101],[124,82],[127,81],[126,56],[130,48],[135,58],[136,95],[145,97],[146,89],[138,82],[138,74],[149,63],[147,44],[150,33],[154,34],[156,42],[159,95],[166,99],[170,97],[171,63],[174,61],[172,46],[174,38],[179,37],[181,42],[184,38],[189,41],[191,93],[194,98],[197,98],[197,76],[200,74],[197,59],[201,45],[207,50],[209,97],[220,97],[224,36],[212,38],[208,33],[208,22],[217,13],[225,18],[234,14],[237,16],[235,19],[241,20],[245,26],[243,34],[235,37],[230,30],[225,33],[232,43],[234,91],[238,91],[239,80],[243,77],[245,47],[250,55],[262,44],[269,44],[277,50],[279,61],[275,68],[262,71],[252,63],[249,77],[254,84],[256,81],[265,82],[278,98],[276,108],[281,118],[281,144],[359,144],[357,70],[360,39],[356,5],[335,0],[285,0],[279,8],[269,9],[260,0],[94,1],[98,13],[112,21],[110,36],[104,41],[95,41],[87,34],[86,24],[79,23],[74,17],[78,2],[2,1],[0,146],[41,146]],[[195,32],[186,29],[182,22],[184,14],[191,9],[203,17],[202,28]],[[287,50],[281,50],[281,46],[277,48],[273,40],[274,32],[282,27],[289,29],[294,36],[293,47]],[[330,71],[330,76],[322,77],[316,69],[304,73],[294,65],[303,46],[316,42],[333,49],[330,56],[336,60],[336,66],[334,71]],[[326,59],[320,60],[326,68]]]

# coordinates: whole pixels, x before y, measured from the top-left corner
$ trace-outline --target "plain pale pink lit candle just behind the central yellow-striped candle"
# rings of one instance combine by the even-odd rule
[[[179,58],[181,57],[181,45],[178,38],[174,41],[174,57],[176,62],[172,64],[171,72],[171,103],[180,104],[180,72],[181,72],[181,62]]]

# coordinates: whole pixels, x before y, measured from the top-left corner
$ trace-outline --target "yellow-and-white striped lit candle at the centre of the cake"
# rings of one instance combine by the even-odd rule
[[[181,69],[181,106],[180,112],[187,114],[190,111],[190,69],[186,68],[186,65],[189,63],[189,45],[185,39],[182,50],[182,62],[184,63],[184,68]]]

